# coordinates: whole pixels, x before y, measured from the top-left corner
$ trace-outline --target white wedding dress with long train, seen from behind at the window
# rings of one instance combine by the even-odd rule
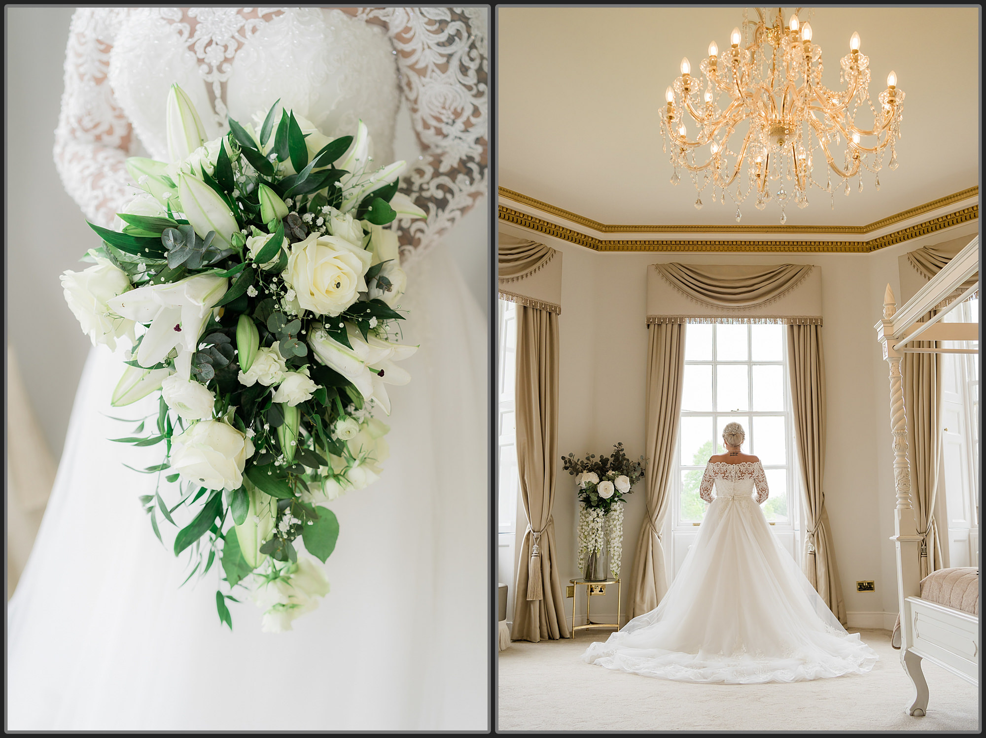
[[[711,504],[661,604],[593,643],[584,660],[648,677],[725,684],[870,671],[876,652],[846,633],[774,538],[759,506],[768,494],[760,462],[710,462],[700,494]]]

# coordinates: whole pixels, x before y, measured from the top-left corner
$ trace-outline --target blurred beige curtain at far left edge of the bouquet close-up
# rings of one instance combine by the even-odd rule
[[[35,544],[55,462],[37,425],[13,347],[7,346],[7,599]]]

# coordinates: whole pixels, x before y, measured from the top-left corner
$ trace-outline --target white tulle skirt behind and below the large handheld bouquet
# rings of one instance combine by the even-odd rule
[[[340,524],[331,590],[287,633],[262,633],[239,596],[233,632],[221,626],[218,566],[179,586],[176,529],[161,523],[162,546],[138,499],[157,475],[123,466],[160,463],[162,448],[108,440],[134,428],[109,416],[157,400],[111,408],[123,366],[93,350],[8,607],[9,728],[486,728],[486,324],[442,246],[408,272],[404,340],[421,349],[401,364],[411,383],[390,388],[385,472],[325,503]]]

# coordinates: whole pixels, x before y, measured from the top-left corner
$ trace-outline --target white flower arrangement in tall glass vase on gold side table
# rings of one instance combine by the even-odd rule
[[[575,475],[579,488],[579,569],[585,578],[604,579],[599,571],[603,550],[609,552],[609,572],[619,578],[623,561],[623,505],[631,488],[644,476],[644,457],[631,461],[622,443],[608,456],[591,453],[584,459],[562,456],[562,468]]]

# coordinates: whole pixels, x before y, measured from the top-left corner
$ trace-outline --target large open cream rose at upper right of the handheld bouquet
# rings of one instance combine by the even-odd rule
[[[291,244],[282,275],[294,288],[298,303],[317,315],[338,315],[359,293],[367,292],[364,275],[372,255],[337,235],[309,235]]]

